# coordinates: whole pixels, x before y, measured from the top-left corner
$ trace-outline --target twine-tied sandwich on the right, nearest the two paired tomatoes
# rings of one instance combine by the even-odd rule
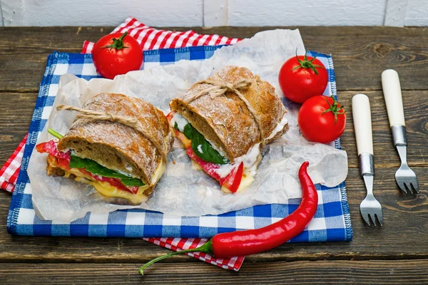
[[[254,180],[261,150],[288,129],[275,88],[248,68],[227,66],[170,103],[167,115],[186,152],[223,192]]]

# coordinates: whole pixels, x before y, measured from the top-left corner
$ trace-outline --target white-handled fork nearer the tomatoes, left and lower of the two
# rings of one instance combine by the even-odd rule
[[[360,174],[365,182],[367,196],[360,204],[362,218],[370,226],[376,226],[376,217],[382,226],[382,206],[373,195],[373,138],[370,102],[367,95],[352,97],[352,118],[354,119],[355,140],[357,140]]]

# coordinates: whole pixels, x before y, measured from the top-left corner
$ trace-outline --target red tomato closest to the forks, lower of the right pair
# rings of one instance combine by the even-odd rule
[[[300,108],[297,121],[302,134],[312,142],[332,142],[342,135],[346,124],[346,110],[333,96],[317,95]]]

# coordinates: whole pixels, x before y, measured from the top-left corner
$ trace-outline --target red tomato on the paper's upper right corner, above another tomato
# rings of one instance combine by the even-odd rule
[[[303,103],[315,95],[322,95],[328,83],[325,66],[312,56],[290,58],[280,69],[280,87],[285,97]]]

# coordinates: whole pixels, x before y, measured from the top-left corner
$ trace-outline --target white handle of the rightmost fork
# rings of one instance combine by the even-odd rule
[[[405,125],[401,86],[397,71],[387,69],[382,72],[382,89],[387,105],[389,126]]]

